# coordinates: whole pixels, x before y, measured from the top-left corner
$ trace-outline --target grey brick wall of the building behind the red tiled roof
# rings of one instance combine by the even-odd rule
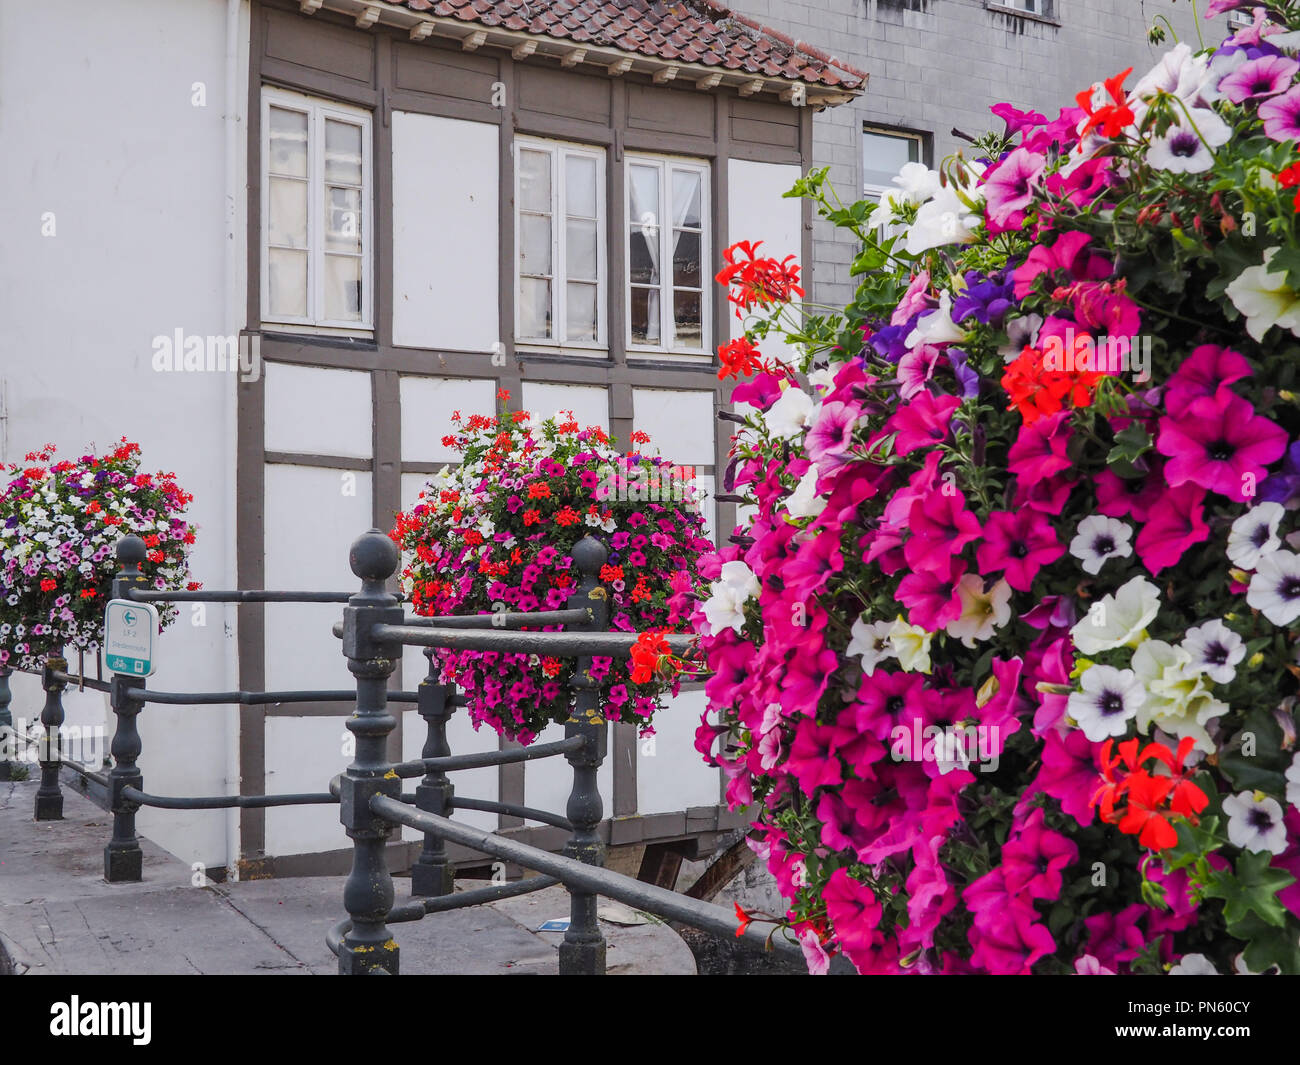
[[[1008,100],[1056,112],[1093,81],[1134,68],[1131,87],[1173,46],[1147,43],[1164,14],[1179,39],[1199,47],[1188,0],[1056,0],[1053,21],[997,10],[991,0],[732,0],[796,40],[835,55],[871,77],[861,98],[812,120],[814,157],[848,203],[862,190],[863,125],[927,135],[936,165],[961,147],[956,126],[979,134],[1000,120],[988,108]],[[1204,8],[1204,4],[1200,7]],[[1226,34],[1227,18],[1202,20],[1205,42]],[[815,221],[814,261],[806,276],[819,303],[853,296],[853,247]]]

